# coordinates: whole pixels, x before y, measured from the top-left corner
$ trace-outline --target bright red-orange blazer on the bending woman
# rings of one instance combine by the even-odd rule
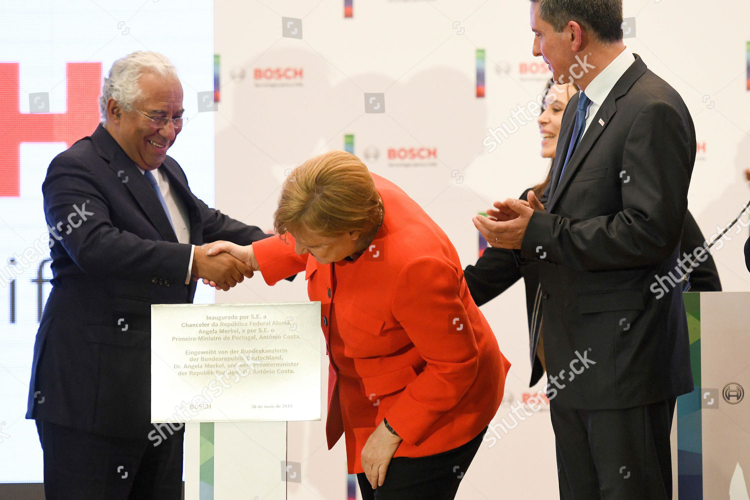
[[[475,438],[502,400],[510,363],[469,295],[446,234],[404,191],[373,175],[385,206],[370,249],[320,265],[293,239],[253,244],[272,285],[306,271],[329,350],[329,449],[346,435],[350,474],[383,418],[404,439],[395,457],[425,457]]]

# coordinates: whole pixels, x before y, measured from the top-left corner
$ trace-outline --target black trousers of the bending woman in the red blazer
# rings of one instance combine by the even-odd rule
[[[479,436],[453,450],[428,457],[391,460],[383,486],[373,490],[365,473],[357,475],[362,500],[452,500],[481,445]]]

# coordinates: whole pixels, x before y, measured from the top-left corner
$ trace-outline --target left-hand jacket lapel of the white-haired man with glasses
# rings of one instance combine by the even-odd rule
[[[92,134],[97,151],[101,157],[110,162],[110,169],[118,176],[122,184],[127,187],[151,224],[157,229],[164,241],[177,242],[169,219],[166,218],[164,208],[154,189],[138,169],[138,166],[125,154],[117,141],[100,124]]]

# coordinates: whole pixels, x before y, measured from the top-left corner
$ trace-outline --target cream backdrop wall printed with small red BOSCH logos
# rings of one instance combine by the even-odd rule
[[[343,149],[351,134],[354,152],[413,196],[452,238],[463,265],[472,263],[478,254],[472,215],[495,199],[518,196],[540,181],[549,165],[538,154],[535,122],[513,118],[514,110],[517,116],[536,100],[549,77],[531,53],[529,4],[355,1],[353,17],[347,18],[344,3],[215,3],[215,50],[221,55],[217,206],[270,228],[289,169],[315,154]],[[288,26],[285,17],[293,18]],[[745,85],[750,4],[625,0],[625,18],[631,18],[627,45],[682,94],[693,115],[699,151],[689,201],[709,238],[750,197],[742,181],[750,166]],[[484,98],[476,97],[477,49],[486,51]],[[365,93],[383,93],[378,110],[385,112],[365,112]],[[488,129],[503,125],[518,130],[487,147]],[[389,160],[391,149],[413,158]],[[746,238],[743,230],[715,253],[725,290],[750,289],[742,256]],[[259,278],[217,294],[217,301],[305,296],[302,279],[271,289]],[[510,404],[541,388],[527,388],[523,286],[482,310],[513,363],[508,400],[495,419],[510,421]],[[343,444],[326,450],[323,422],[289,428],[288,460],[302,463],[302,483],[290,483],[290,499],[347,498]],[[481,447],[459,499],[558,498],[547,412],[519,422],[490,444]]]

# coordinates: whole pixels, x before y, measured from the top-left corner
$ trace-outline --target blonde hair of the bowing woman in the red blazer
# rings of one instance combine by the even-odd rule
[[[367,234],[380,224],[383,202],[372,175],[358,157],[330,151],[294,169],[281,187],[274,229],[322,236]]]

